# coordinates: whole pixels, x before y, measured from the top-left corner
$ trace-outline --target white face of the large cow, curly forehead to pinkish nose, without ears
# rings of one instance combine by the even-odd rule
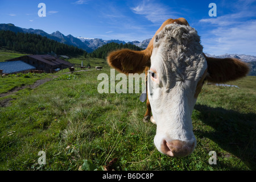
[[[187,156],[196,146],[192,110],[207,75],[207,61],[197,31],[168,24],[155,36],[148,74],[154,143],[163,154]]]

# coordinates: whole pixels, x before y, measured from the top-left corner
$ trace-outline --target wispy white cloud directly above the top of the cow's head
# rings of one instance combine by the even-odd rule
[[[131,8],[135,14],[144,15],[152,23],[163,23],[169,18],[175,18],[173,11],[160,3],[143,1],[138,6]],[[171,14],[172,12],[173,14]]]

